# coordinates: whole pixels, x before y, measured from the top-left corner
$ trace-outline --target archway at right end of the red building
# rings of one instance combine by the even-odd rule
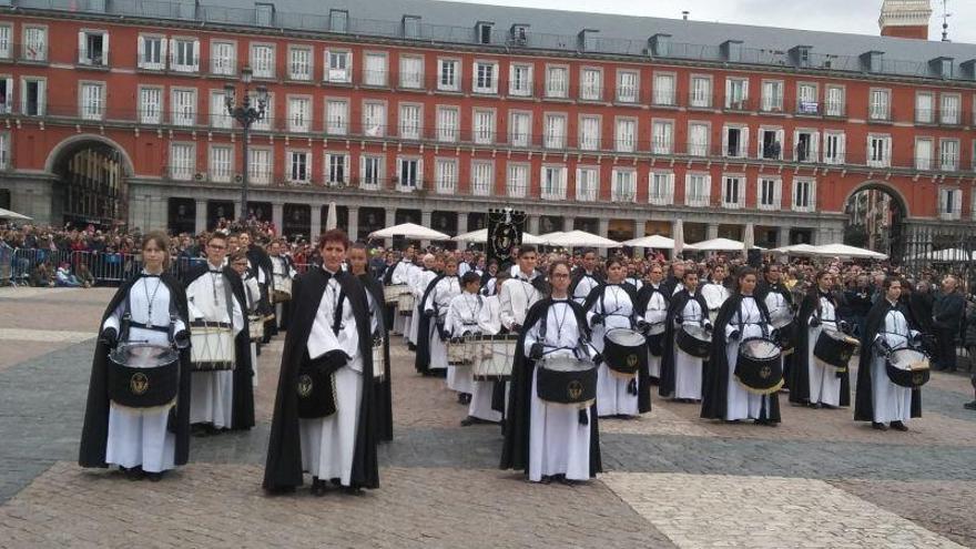
[[[847,197],[844,211],[844,244],[881,252],[894,261],[905,255],[908,209],[891,187],[863,185]]]

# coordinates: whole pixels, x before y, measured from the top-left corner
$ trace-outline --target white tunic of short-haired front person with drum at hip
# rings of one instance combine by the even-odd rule
[[[318,302],[306,347],[312,358],[333,349],[340,349],[349,357],[349,362],[334,374],[336,413],[323,418],[299,418],[298,428],[303,470],[319,479],[338,478],[343,486],[349,486],[363,399],[363,356],[356,318],[347,301],[342,304],[339,331],[333,332],[340,292],[339,284],[329,279]]]

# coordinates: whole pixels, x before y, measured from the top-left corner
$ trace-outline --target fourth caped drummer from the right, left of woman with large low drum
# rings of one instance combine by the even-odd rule
[[[681,271],[681,281],[675,283],[679,288],[671,297],[668,317],[664,321],[664,345],[661,357],[661,384],[658,394],[672,397],[679,403],[698,403],[702,397],[702,369],[711,355],[709,337],[712,323],[709,321],[709,305],[699,292],[698,272]],[[662,284],[667,295],[667,287]],[[678,338],[685,335],[697,336],[698,353],[689,353],[691,348],[682,348]],[[690,338],[689,338],[690,340]]]

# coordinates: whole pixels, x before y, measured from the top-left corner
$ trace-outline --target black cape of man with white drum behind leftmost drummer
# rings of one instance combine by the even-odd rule
[[[209,263],[195,265],[186,276],[186,286],[210,272]],[[251,331],[247,324],[247,297],[244,295],[244,283],[241,275],[230,266],[223,270],[224,282],[231,284],[231,292],[244,312],[244,329],[234,338],[234,395],[231,408],[231,429],[250,429],[254,427],[254,367],[251,364]]]

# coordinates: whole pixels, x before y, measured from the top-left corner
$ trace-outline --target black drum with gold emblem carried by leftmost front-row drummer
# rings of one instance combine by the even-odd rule
[[[169,406],[180,392],[180,354],[148,343],[121,344],[109,353],[109,398],[119,406]]]

